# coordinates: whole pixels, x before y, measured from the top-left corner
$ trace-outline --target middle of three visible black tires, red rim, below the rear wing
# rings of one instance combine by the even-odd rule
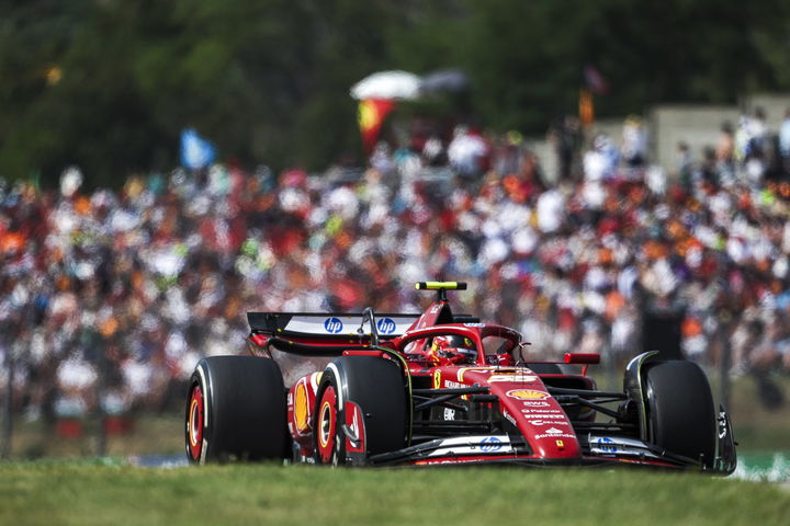
[[[316,464],[342,466],[354,462],[347,455],[347,403],[363,415],[363,451],[393,451],[406,445],[406,387],[400,367],[375,356],[341,356],[321,375],[313,414]]]

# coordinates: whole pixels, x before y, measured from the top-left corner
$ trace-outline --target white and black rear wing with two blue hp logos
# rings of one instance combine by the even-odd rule
[[[375,313],[379,338],[390,340],[406,332],[421,315]],[[253,333],[294,338],[302,342],[317,340],[346,341],[349,338],[370,338],[364,313],[340,312],[247,312]]]

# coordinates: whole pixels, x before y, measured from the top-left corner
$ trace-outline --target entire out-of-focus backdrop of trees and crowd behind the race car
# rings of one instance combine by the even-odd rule
[[[0,453],[180,453],[246,311],[427,278],[787,450],[789,52],[776,0],[0,1]]]

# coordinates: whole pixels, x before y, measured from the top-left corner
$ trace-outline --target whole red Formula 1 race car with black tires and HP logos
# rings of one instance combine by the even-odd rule
[[[465,287],[418,283],[437,291],[422,315],[249,312],[252,355],[192,375],[189,460],[735,469],[730,418],[698,365],[644,353],[622,392],[598,390],[598,354],[526,362],[517,331],[452,312],[447,291]]]

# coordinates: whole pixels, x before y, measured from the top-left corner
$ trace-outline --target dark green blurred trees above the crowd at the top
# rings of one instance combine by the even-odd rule
[[[195,127],[224,159],[323,168],[361,155],[349,88],[460,67],[464,116],[542,133],[576,110],[735,103],[790,88],[781,0],[0,0],[0,175],[93,185],[167,170]]]

